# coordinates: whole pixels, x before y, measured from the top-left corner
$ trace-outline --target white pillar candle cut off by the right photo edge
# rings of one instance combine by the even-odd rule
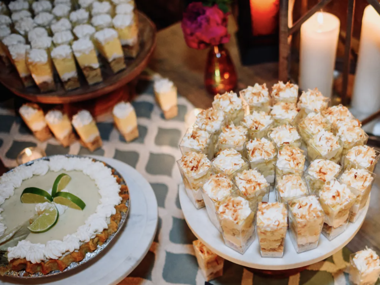
[[[380,15],[371,5],[364,9],[352,107],[359,112],[380,109]]]

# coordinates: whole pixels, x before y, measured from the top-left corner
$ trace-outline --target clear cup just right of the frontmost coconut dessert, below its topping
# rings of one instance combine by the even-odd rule
[[[287,213],[291,242],[293,243],[293,246],[297,253],[301,253],[314,249],[318,246],[325,215],[322,214],[321,217],[297,222],[291,210],[291,206],[294,205],[294,203],[297,203],[297,200],[298,199],[293,199],[287,203]],[[317,198],[317,200],[319,199]],[[317,237],[311,238],[312,235],[310,233]]]

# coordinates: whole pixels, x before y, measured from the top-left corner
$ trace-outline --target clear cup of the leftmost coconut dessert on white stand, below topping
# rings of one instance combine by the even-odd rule
[[[177,161],[178,168],[180,170],[182,181],[185,185],[186,193],[188,194],[188,197],[192,204],[195,206],[196,209],[201,209],[204,207],[204,201],[202,197],[202,191],[200,190],[200,187],[208,180],[208,178],[212,175],[212,167],[210,167],[208,170],[203,171],[201,173],[198,173],[196,175],[193,175],[189,177],[185,171],[181,168],[180,165],[181,160]]]

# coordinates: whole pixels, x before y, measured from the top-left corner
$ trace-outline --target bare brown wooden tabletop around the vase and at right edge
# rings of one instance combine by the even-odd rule
[[[238,90],[256,82],[260,84],[266,82],[269,87],[276,83],[278,81],[277,63],[241,65],[235,39],[236,25],[231,17],[229,30],[232,36],[226,47],[233,57],[238,72]],[[179,93],[187,97],[195,107],[209,108],[213,98],[206,92],[203,84],[207,51],[207,49],[202,51],[190,49],[184,41],[181,24],[177,23],[158,32],[157,47],[149,66],[162,76],[173,80]],[[347,245],[352,252],[369,246],[380,253],[379,205],[380,193],[373,191],[366,220],[357,235]]]

